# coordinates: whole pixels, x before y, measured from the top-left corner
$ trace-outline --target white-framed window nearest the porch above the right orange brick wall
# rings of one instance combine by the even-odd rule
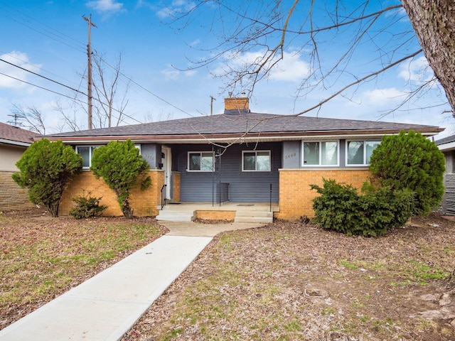
[[[302,166],[338,166],[339,141],[302,141]]]

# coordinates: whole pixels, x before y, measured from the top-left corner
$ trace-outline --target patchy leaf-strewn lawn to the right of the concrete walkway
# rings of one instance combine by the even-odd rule
[[[215,237],[132,340],[455,340],[455,224],[378,238],[274,222]]]

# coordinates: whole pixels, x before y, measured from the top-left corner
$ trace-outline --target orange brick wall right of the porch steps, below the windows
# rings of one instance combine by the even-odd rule
[[[369,175],[368,169],[282,169],[279,171],[279,212],[274,217],[283,220],[298,220],[304,215],[314,217],[313,199],[318,193],[311,190],[310,185],[322,186],[322,179],[326,178],[361,188]]]

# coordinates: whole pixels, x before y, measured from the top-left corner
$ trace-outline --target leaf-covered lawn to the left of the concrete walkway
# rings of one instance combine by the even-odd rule
[[[0,329],[164,234],[153,218],[0,214]]]

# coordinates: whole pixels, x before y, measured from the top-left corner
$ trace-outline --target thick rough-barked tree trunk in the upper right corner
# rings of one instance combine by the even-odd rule
[[[402,3],[455,116],[455,2],[402,0]]]

